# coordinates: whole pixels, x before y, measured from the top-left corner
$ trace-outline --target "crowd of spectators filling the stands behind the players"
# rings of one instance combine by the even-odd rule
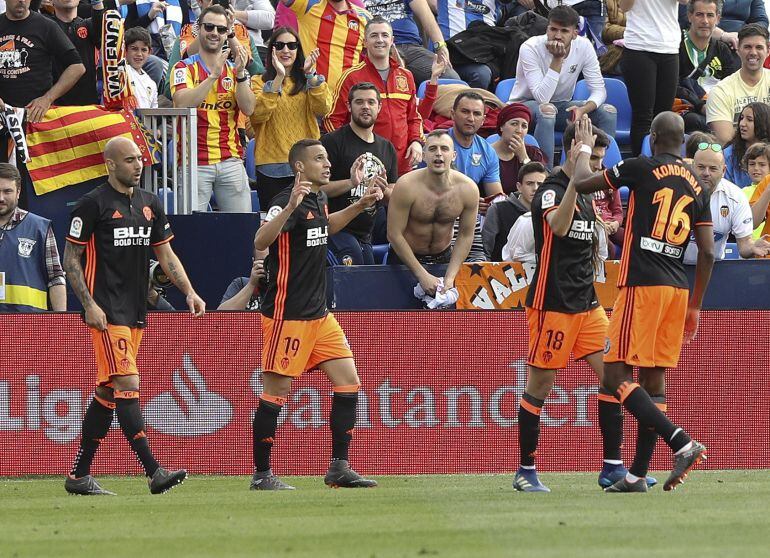
[[[123,108],[197,109],[198,210],[215,203],[225,212],[268,211],[295,181],[288,155],[302,139],[320,138],[328,152],[332,180],[323,191],[332,209],[380,190],[375,207],[329,238],[331,262],[404,261],[408,235],[401,249],[377,246],[401,238],[391,230],[402,219],[388,215],[389,202],[394,187],[413,182],[409,174],[424,166],[432,130],[448,132],[454,168],[478,188],[467,261],[534,261],[532,195],[564,163],[569,122],[592,120],[598,170],[623,155],[651,155],[650,123],[666,110],[681,114],[698,140],[690,153],[682,150],[722,217],[717,258],[728,241],[741,257],[768,253],[770,57],[760,0],[0,4],[0,107],[8,115],[0,158],[12,163],[19,157],[10,115],[39,123],[51,107],[102,101],[103,15],[117,10],[129,84]],[[0,186],[17,184],[0,188],[0,226],[9,237],[27,215],[26,192],[12,176],[0,176]],[[593,196],[601,253],[618,258],[627,190]],[[61,307],[58,296],[40,302],[61,281],[51,271],[58,254],[46,226],[36,224],[39,246],[48,249],[38,250],[23,278],[5,277],[27,281],[36,302],[0,309]],[[411,246],[417,260],[449,261],[451,245],[442,254],[423,248]]]

